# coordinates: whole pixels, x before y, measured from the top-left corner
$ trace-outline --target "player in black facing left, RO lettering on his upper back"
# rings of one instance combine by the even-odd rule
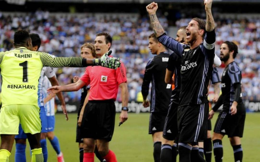
[[[152,82],[151,106],[149,119],[149,134],[152,134],[154,150],[153,157],[155,162],[160,162],[162,131],[165,118],[168,112],[168,106],[171,97],[171,85],[164,82],[165,69],[169,59],[164,45],[156,38],[155,34],[149,35],[149,49],[156,55],[152,57],[146,67],[144,80],[142,83],[143,106],[149,107],[147,99],[149,84]]]

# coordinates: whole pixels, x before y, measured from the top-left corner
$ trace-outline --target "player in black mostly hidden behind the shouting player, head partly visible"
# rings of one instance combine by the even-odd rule
[[[180,27],[177,31],[176,40],[180,43],[185,43],[186,27]],[[163,134],[162,134],[162,146],[161,146],[161,162],[176,162],[177,157],[177,144],[176,137],[178,134],[177,127],[177,108],[179,105],[180,96],[180,62],[181,57],[176,53],[172,53],[169,56],[167,63],[165,83],[173,84],[174,73],[174,89],[172,90],[171,101],[168,109],[168,113],[165,119]]]

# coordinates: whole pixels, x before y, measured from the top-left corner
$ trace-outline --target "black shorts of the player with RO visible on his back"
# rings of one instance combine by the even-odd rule
[[[161,112],[150,113],[149,134],[163,131],[166,115],[167,114]]]

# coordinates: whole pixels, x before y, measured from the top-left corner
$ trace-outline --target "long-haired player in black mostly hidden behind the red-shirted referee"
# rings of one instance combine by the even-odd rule
[[[92,43],[83,44],[81,46],[80,56],[85,58],[85,59],[96,58],[96,51],[95,51],[94,45]],[[78,80],[79,80],[78,76],[73,77],[73,83],[76,83]],[[85,106],[87,105],[87,102],[88,102],[89,89],[90,89],[89,86],[83,86],[81,88],[80,107],[79,107],[79,111],[78,111],[78,115],[77,115],[78,123],[77,123],[77,129],[76,129],[76,142],[79,143],[80,162],[83,162],[83,138],[81,138],[81,136],[80,136],[80,126],[81,126],[84,108],[85,108]],[[82,107],[84,107],[84,108],[82,109]],[[95,154],[96,154],[97,158],[99,158],[100,161],[104,160],[99,155],[97,148],[95,149]]]

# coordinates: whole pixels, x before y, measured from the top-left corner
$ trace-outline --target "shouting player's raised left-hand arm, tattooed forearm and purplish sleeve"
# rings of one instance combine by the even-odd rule
[[[146,6],[146,10],[149,13],[154,34],[156,35],[160,43],[162,43],[164,46],[170,48],[176,54],[181,56],[183,51],[183,44],[179,43],[178,41],[174,40],[173,38],[165,34],[165,31],[162,28],[156,16],[157,9],[158,9],[158,4],[154,2]]]

